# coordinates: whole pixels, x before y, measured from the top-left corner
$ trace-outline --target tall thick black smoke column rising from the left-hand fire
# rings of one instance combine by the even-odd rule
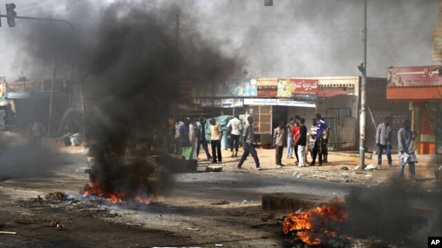
[[[173,17],[177,8],[160,12]],[[145,180],[158,176],[153,164],[137,160],[128,165],[128,148],[136,149],[144,135],[167,135],[177,81],[229,77],[237,68],[236,61],[224,59],[199,37],[182,41],[177,50],[169,25],[143,6],[116,3],[104,12],[95,46],[88,52],[88,73],[104,81],[109,92],[89,132],[94,142],[90,154],[95,156],[91,178],[109,192],[156,193]],[[164,139],[156,141],[160,145]],[[157,184],[164,189],[170,174],[161,175]]]

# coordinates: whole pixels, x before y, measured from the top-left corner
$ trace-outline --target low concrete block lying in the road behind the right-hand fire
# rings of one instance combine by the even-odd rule
[[[328,203],[332,198],[297,193],[269,193],[262,196],[262,209],[280,210],[311,209],[323,203]]]

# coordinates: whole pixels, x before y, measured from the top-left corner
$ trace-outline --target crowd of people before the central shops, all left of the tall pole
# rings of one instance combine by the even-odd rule
[[[188,160],[198,160],[200,147],[204,149],[207,160],[212,163],[222,162],[221,141],[223,130],[215,118],[209,119],[208,140],[206,140],[206,118],[182,118],[182,121],[169,122],[171,146],[169,149],[176,154],[182,154]],[[235,116],[229,120],[226,125],[229,134],[229,148],[231,157],[238,157],[240,144],[242,144],[243,153],[238,163],[238,169],[242,169],[242,164],[250,155],[256,164],[256,169],[260,170],[260,161],[256,152],[253,132],[253,116],[247,118],[247,122]],[[287,145],[287,158],[296,156],[295,164],[299,167],[307,165],[323,165],[327,163],[327,143],[330,127],[320,114],[311,120],[311,127],[308,132],[305,126],[305,118],[295,116],[291,118],[286,125],[280,122],[273,132],[273,145],[276,148],[276,166],[282,168],[283,149]],[[241,139],[242,136],[242,139]],[[209,152],[208,141],[211,144],[212,152]],[[307,161],[307,153],[311,154],[311,163]],[[316,164],[318,158],[318,164]]]

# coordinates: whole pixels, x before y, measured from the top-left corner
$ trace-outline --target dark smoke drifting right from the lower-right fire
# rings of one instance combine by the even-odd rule
[[[345,198],[345,234],[403,242],[406,247],[426,247],[428,236],[440,236],[441,192],[413,190],[409,183],[394,181],[390,187],[350,192]]]

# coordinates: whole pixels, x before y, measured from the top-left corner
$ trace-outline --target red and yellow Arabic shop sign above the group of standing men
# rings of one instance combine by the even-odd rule
[[[319,81],[315,79],[278,79],[278,97],[317,99]]]

